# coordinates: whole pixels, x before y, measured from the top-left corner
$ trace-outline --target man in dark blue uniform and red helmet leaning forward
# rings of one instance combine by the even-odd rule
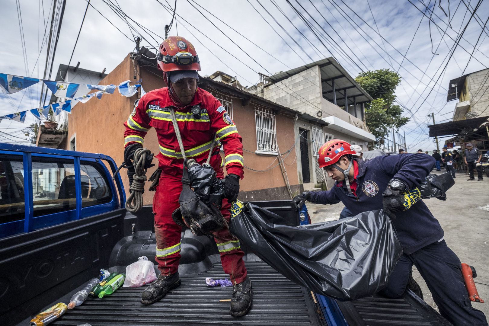
[[[435,166],[430,155],[378,156],[353,159],[353,148],[334,139],[319,150],[319,167],[336,182],[331,190],[304,192],[294,197],[300,208],[306,200],[317,204],[340,201],[354,214],[384,209],[396,227],[403,255],[379,294],[400,297],[408,286],[413,264],[426,281],[440,314],[454,326],[488,325],[482,311],[473,308],[457,255],[448,248],[444,232],[422,200],[405,203]],[[406,201],[407,202],[407,201]],[[414,282],[414,281],[413,281]]]

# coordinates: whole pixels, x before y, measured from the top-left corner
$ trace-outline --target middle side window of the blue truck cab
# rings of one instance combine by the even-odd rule
[[[34,217],[76,209],[73,160],[32,157]]]

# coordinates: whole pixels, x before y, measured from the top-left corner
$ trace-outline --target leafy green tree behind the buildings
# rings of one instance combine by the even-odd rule
[[[408,117],[402,116],[400,106],[394,105],[394,92],[400,83],[397,72],[390,69],[366,71],[358,74],[355,80],[374,98],[365,104],[365,122],[377,142],[385,138],[392,128],[399,129],[409,121]]]

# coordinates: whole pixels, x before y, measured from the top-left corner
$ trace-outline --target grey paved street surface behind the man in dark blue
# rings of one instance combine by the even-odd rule
[[[436,198],[424,200],[434,217],[445,230],[448,246],[462,262],[475,267],[479,296],[486,303],[472,303],[489,317],[489,178],[467,181],[468,175],[457,174],[455,185],[448,190],[446,201]],[[335,220],[343,209],[336,205],[307,204],[312,222]],[[422,287],[424,300],[438,310],[421,275],[413,266],[413,276]]]

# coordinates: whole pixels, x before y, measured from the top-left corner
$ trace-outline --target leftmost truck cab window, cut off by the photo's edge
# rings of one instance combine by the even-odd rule
[[[0,223],[24,219],[22,156],[0,155]]]

